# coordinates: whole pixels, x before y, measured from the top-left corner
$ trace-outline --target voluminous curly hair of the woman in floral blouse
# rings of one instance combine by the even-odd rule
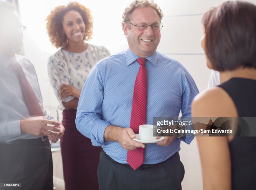
[[[93,18],[91,11],[78,2],[68,3],[67,6],[60,5],[55,7],[45,19],[47,21],[46,29],[50,37],[50,41],[56,48],[64,48],[68,44],[67,36],[63,32],[62,21],[63,16],[70,10],[79,12],[83,18],[83,22],[86,26],[84,40],[92,38]]]

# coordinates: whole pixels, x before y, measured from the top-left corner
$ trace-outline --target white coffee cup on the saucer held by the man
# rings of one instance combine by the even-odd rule
[[[148,124],[140,125],[139,126],[139,138],[140,138],[140,140],[144,140],[144,141],[156,140],[157,135],[156,134],[154,135],[154,132],[156,132],[156,130],[158,128],[162,129],[162,127],[156,127],[155,125],[148,125]],[[158,135],[160,135],[160,134],[158,134]]]

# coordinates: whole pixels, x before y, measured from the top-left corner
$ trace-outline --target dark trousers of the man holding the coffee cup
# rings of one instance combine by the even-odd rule
[[[180,190],[184,166],[176,152],[166,161],[142,165],[133,170],[130,165],[111,159],[103,150],[98,166],[100,190]]]

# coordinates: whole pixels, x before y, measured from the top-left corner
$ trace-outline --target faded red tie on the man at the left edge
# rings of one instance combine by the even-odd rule
[[[44,113],[42,112],[41,106],[39,105],[36,94],[33,88],[30,86],[28,79],[25,76],[25,73],[17,59],[12,60],[11,66],[18,76],[19,85],[31,117],[43,116]]]

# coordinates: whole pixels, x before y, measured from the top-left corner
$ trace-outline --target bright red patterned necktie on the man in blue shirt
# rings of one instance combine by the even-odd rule
[[[138,71],[132,100],[132,112],[130,128],[135,134],[139,133],[139,125],[146,124],[147,109],[147,71],[144,58],[138,58],[140,69]],[[136,170],[144,162],[144,148],[137,148],[127,152],[126,160],[133,170]]]

